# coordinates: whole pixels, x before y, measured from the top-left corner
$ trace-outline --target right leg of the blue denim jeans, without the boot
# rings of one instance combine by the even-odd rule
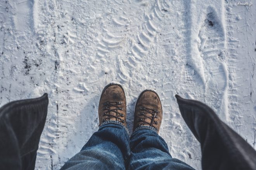
[[[194,170],[180,160],[172,158],[168,146],[154,129],[140,126],[130,139],[131,157],[128,169]]]

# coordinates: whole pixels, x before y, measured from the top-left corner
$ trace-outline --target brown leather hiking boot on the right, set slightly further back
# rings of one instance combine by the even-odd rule
[[[139,126],[151,126],[159,133],[162,114],[162,105],[157,93],[144,90],[135,105],[133,131]]]

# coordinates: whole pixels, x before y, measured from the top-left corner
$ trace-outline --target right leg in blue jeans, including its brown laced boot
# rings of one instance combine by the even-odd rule
[[[161,120],[162,106],[157,93],[145,90],[135,106],[133,134],[130,138],[131,156],[126,167],[131,170],[193,170],[171,157],[166,142],[158,135]]]

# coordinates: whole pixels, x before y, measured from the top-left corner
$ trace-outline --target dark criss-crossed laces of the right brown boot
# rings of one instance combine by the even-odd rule
[[[144,112],[140,112],[139,115],[140,115],[140,116],[144,116],[144,117],[138,119],[139,122],[142,122],[142,123],[138,124],[138,126],[143,126],[143,125],[145,125],[145,124],[148,124],[149,126],[152,126],[153,128],[155,128],[155,127],[153,126],[153,124],[158,124],[158,122],[155,121],[154,119],[155,119],[155,118],[158,118],[158,116],[157,116],[156,114],[157,114],[159,111],[156,110],[156,109],[149,109],[149,108],[145,108],[145,107],[140,107],[140,110],[143,110]],[[151,114],[151,116],[146,116],[147,113],[148,113],[148,114]],[[150,121],[150,122],[145,121],[146,118],[151,119],[151,121]],[[137,127],[138,127],[138,126],[137,126]]]

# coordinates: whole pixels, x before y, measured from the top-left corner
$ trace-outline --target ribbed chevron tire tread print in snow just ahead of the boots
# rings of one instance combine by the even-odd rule
[[[139,2],[139,4],[142,6],[147,5],[146,2]],[[115,48],[123,48],[123,46],[127,47],[128,45],[127,56],[118,57],[118,67],[120,70],[118,76],[121,82],[131,80],[131,77],[135,73],[134,71],[140,66],[140,62],[143,60],[143,57],[147,55],[150,46],[154,44],[157,32],[160,31],[155,22],[157,22],[156,20],[161,20],[160,14],[162,14],[162,12],[158,0],[155,4],[156,7],[154,7],[150,15],[144,14],[145,22],[134,37],[129,35],[129,31],[133,29],[130,27],[131,20],[129,17],[121,15],[117,18],[112,18],[113,25],[109,26],[109,28],[105,28],[105,36],[103,36],[101,40],[98,40],[97,57],[103,61]],[[155,17],[155,15],[159,18]]]

